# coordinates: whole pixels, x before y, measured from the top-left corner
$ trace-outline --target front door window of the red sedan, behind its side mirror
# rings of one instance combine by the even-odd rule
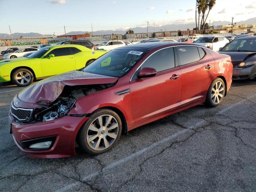
[[[142,64],[138,72],[144,67],[154,68],[157,72],[174,68],[175,58],[173,48],[165,48],[154,53]]]

